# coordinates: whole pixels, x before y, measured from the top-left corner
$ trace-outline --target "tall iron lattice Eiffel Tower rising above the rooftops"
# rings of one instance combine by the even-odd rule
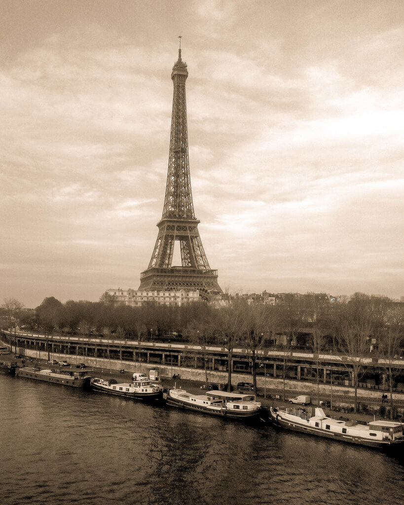
[[[200,221],[193,210],[185,99],[188,71],[181,60],[181,37],[179,39],[178,60],[171,73],[174,95],[163,216],[157,223],[159,233],[150,263],[140,274],[139,290],[222,292],[218,272],[209,266],[197,228]],[[175,240],[179,241],[181,249],[182,266],[178,267],[172,266]]]

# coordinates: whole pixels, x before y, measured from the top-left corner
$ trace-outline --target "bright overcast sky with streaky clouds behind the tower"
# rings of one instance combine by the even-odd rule
[[[400,0],[2,0],[0,303],[138,288],[178,35],[221,287],[404,295],[403,28]]]

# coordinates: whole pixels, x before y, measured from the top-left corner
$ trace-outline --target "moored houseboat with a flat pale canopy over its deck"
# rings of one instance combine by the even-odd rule
[[[204,414],[229,417],[232,419],[252,419],[261,412],[261,403],[254,394],[207,391],[205,394],[191,394],[183,389],[170,389],[164,393],[167,405],[198,411]]]

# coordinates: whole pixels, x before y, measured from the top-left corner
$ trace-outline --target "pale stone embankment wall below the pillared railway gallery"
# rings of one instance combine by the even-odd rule
[[[35,351],[33,349],[19,349],[19,352],[22,354],[25,353],[26,356],[30,356],[32,358],[47,360],[47,351]],[[86,356],[76,356],[76,355],[65,355],[65,354],[57,354],[51,353],[51,359],[55,360],[67,360],[69,363],[73,365],[77,363],[81,363],[85,361],[85,364],[89,367],[94,368],[102,368],[105,370],[121,370],[125,369],[130,372],[143,372],[146,373],[149,370],[158,370],[160,377],[172,377],[173,374],[180,374],[181,379],[189,379],[200,382],[205,382],[205,370],[195,369],[195,368],[183,368],[183,367],[171,367],[170,365],[153,365],[151,363],[135,363],[133,361],[117,361],[117,360],[108,360],[103,358],[91,358]],[[218,372],[218,371],[209,371],[208,370],[208,380],[209,382],[215,382],[217,384],[227,383],[227,372]],[[233,385],[236,385],[237,382],[251,382],[252,377],[250,375],[246,376],[245,374],[238,374],[233,372],[231,374],[231,382]],[[270,393],[271,389],[275,391],[279,391],[283,388],[283,381],[281,378],[273,378],[273,377],[262,377],[257,376],[257,387],[260,389],[264,389],[266,387],[267,392]],[[317,395],[317,383],[316,382],[305,382],[303,380],[285,380],[285,390],[288,395],[295,394],[308,394],[312,397],[316,397]],[[319,384],[319,391],[321,394],[329,395],[331,391],[331,387],[329,384],[321,383]],[[354,397],[355,389],[349,386],[332,386],[332,392],[335,395]],[[380,399],[381,392],[369,389],[358,389],[358,396],[362,398],[375,398]],[[404,393],[393,393],[393,399],[404,401]]]

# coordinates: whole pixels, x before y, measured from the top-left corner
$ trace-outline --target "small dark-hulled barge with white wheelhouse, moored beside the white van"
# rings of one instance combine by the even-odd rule
[[[163,394],[163,386],[151,381],[145,374],[134,373],[130,383],[94,377],[90,380],[90,385],[94,391],[137,399],[159,399]]]

